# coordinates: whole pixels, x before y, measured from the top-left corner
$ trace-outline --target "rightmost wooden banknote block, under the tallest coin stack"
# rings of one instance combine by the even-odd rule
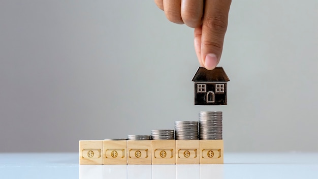
[[[200,140],[200,164],[223,164],[223,140]]]

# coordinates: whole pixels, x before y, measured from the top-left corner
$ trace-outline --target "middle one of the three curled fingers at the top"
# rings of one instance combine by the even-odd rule
[[[164,10],[168,20],[177,24],[183,24],[181,18],[181,0],[163,0]]]

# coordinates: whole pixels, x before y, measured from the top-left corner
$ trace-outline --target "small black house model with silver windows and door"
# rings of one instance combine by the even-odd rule
[[[230,81],[222,67],[207,70],[199,67],[195,82],[195,105],[226,105],[227,82]]]

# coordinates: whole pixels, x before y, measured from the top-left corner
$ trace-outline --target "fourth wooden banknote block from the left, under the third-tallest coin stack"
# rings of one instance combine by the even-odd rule
[[[151,140],[152,164],[176,164],[175,140]]]

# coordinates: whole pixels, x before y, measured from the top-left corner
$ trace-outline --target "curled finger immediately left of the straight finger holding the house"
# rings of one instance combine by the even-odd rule
[[[192,28],[201,26],[203,5],[203,0],[181,0],[182,21]]]

